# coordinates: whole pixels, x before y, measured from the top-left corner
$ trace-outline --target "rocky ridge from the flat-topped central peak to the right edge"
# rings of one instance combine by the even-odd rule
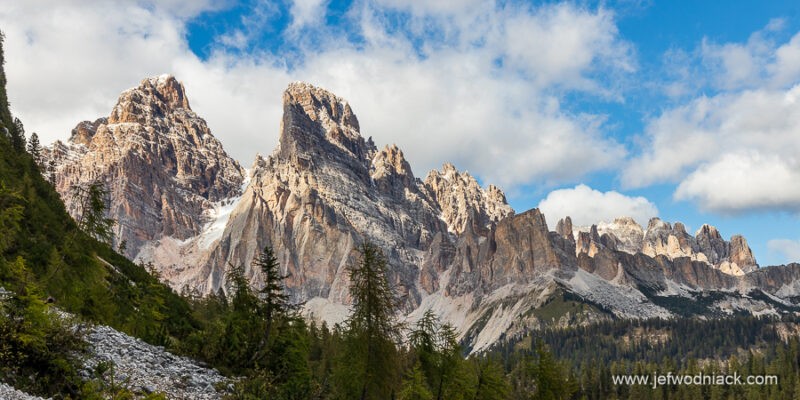
[[[162,97],[188,107],[185,96]],[[349,304],[346,266],[367,238],[387,252],[405,318],[433,310],[475,350],[547,323],[531,311],[558,290],[598,305],[571,315],[577,320],[681,315],[686,301],[711,292],[721,300],[701,307],[709,315],[795,310],[800,268],[758,268],[741,236],[725,241],[707,225],[691,236],[683,224],[657,218],[646,230],[629,218],[588,230],[565,218],[551,231],[538,209],[515,213],[499,188],[484,189],[452,164],[417,178],[401,149],[365,139],[349,104],[324,89],[292,83],[283,108],[276,149],[255,157],[237,190],[209,202],[205,210],[213,212],[196,217],[204,225],[194,226],[194,236],[163,231],[133,251],[176,289],[217,291],[228,263],[245,265],[257,286],[261,278],[249,264],[269,245],[306,315],[341,322]],[[79,136],[92,126],[79,125],[86,131]],[[751,296],[756,291],[764,296]]]

